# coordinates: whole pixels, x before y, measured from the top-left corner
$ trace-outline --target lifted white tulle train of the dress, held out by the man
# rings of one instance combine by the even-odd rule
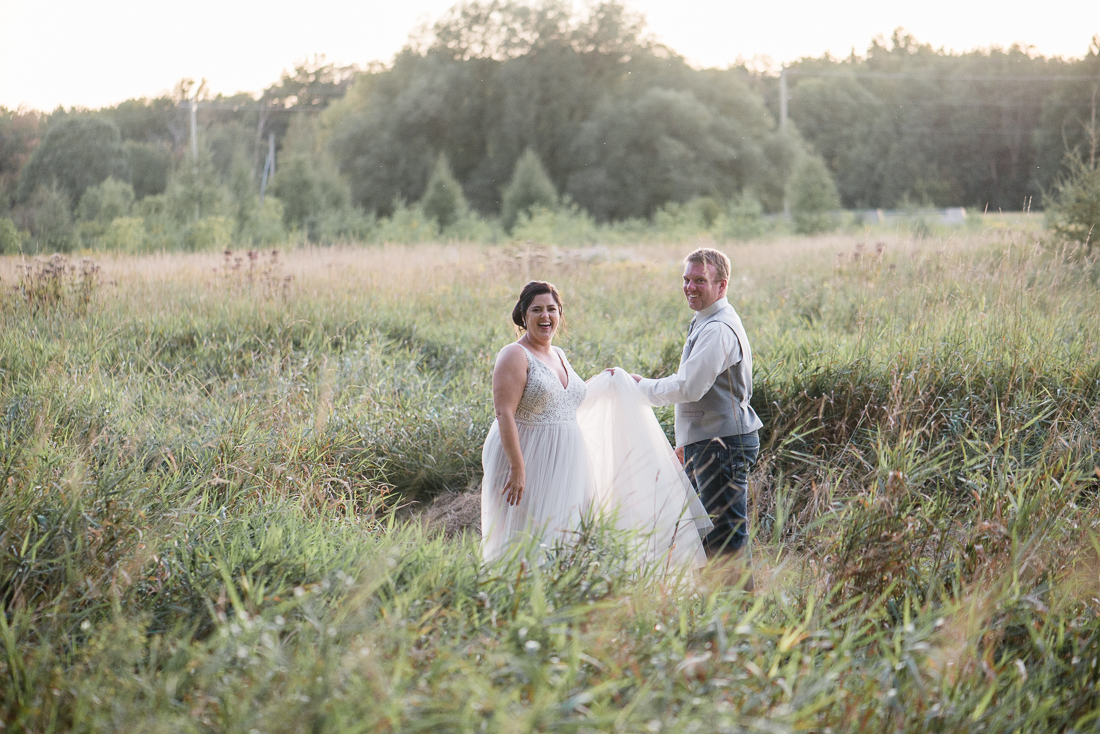
[[[588,447],[593,512],[627,534],[639,563],[704,566],[701,535],[714,524],[634,379],[619,368],[597,374],[576,419]]]

